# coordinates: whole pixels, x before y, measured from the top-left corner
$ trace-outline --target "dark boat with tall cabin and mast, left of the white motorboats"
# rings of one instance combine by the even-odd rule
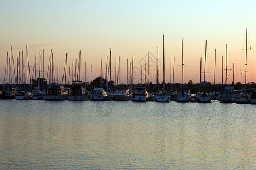
[[[81,75],[81,51],[79,52],[78,71],[76,77],[77,80],[72,81],[71,90],[69,90],[68,100],[88,100],[88,94],[85,94],[85,89],[82,88]]]

